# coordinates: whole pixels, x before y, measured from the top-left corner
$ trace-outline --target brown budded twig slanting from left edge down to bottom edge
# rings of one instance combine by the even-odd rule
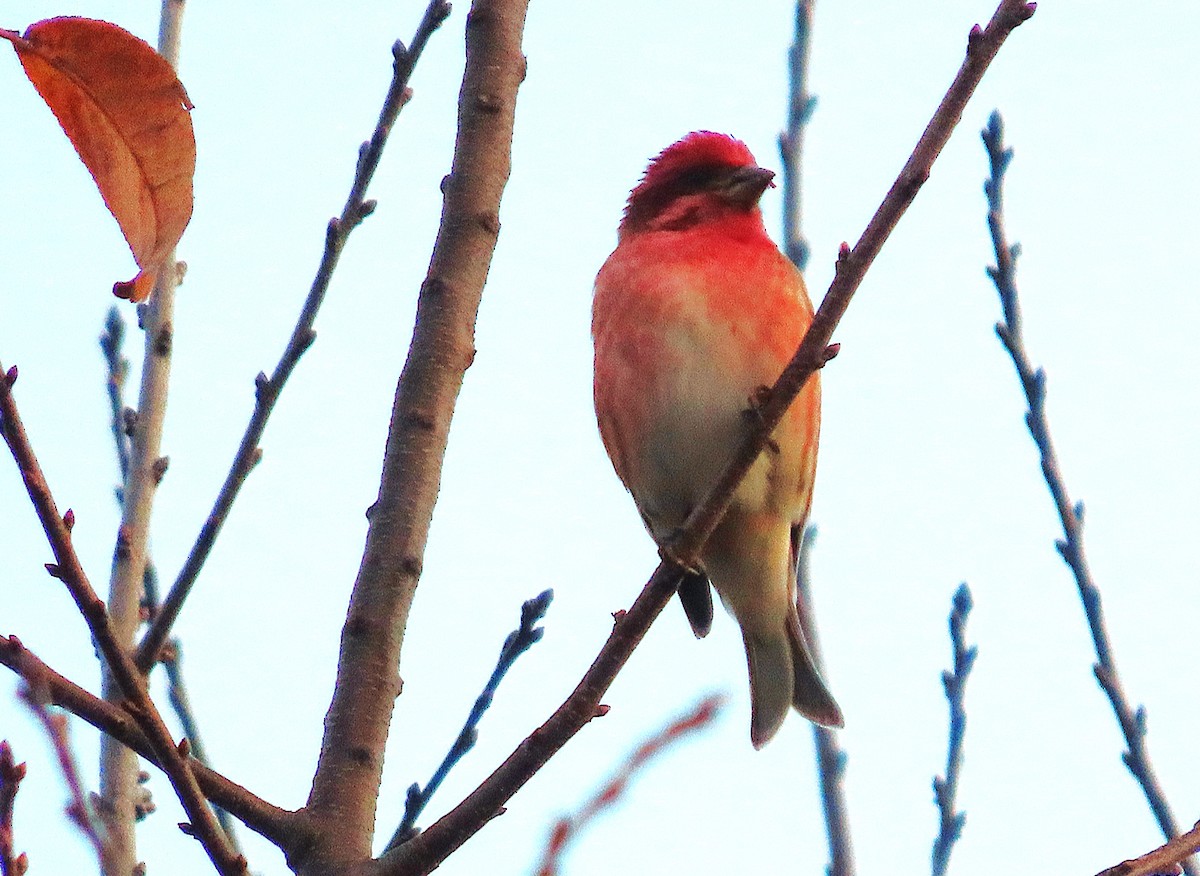
[[[79,557],[71,541],[74,512],[67,510],[65,516],[59,515],[54,497],[50,494],[50,488],[46,482],[37,457],[34,455],[34,449],[17,410],[17,402],[12,394],[12,385],[16,380],[16,367],[10,368],[0,377],[0,436],[4,437],[17,461],[25,490],[34,503],[42,529],[46,532],[47,540],[54,552],[55,562],[47,564],[47,571],[62,581],[84,620],[88,622],[92,641],[108,667],[114,686],[120,696],[127,701],[125,708],[145,733],[157,761],[170,779],[172,787],[192,821],[193,834],[204,845],[204,850],[217,871],[226,876],[244,874],[246,870],[245,858],[234,854],[229,848],[212,810],[209,809],[204,794],[196,784],[196,776],[186,758],[186,740],[180,743],[180,748],[175,746],[170,731],[167,730],[162,715],[150,698],[145,678],[133,665],[132,656],[121,647],[121,642],[109,623],[104,602],[96,595],[83,565],[79,563]]]

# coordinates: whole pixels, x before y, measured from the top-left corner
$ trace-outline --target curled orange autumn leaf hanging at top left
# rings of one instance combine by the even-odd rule
[[[196,137],[187,92],[162,55],[115,24],[50,18],[0,29],[116,218],[140,271],[118,298],[144,301],[192,217]]]

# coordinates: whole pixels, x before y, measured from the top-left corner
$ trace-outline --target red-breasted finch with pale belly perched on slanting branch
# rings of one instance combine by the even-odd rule
[[[758,199],[773,176],[740,140],[688,134],[630,193],[617,248],[596,276],[600,436],[659,544],[716,482],[760,388],[779,378],[812,322],[799,271],[762,223]],[[742,626],[755,748],[791,706],[817,724],[842,724],[796,604],[820,427],[814,376],[679,588],[697,637],[712,625],[709,581]]]

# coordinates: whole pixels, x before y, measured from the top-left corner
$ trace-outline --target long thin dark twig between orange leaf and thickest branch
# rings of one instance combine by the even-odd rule
[[[167,643],[170,628],[178,619],[184,601],[187,599],[197,576],[200,574],[200,569],[212,552],[212,546],[216,544],[221,527],[224,526],[226,520],[229,517],[229,509],[233,508],[234,499],[238,498],[238,492],[263,456],[259,442],[263,438],[263,432],[266,430],[266,421],[275,409],[275,403],[280,398],[283,385],[299,364],[300,356],[305,354],[317,338],[313,324],[317,322],[317,313],[325,300],[325,293],[329,290],[334,269],[337,266],[342,250],[346,248],[346,241],[349,239],[350,232],[358,228],[362,220],[374,211],[376,202],[365,199],[367,186],[371,185],[374,172],[379,167],[379,160],[383,157],[383,149],[388,142],[388,134],[391,133],[391,128],[396,122],[396,116],[413,95],[412,89],[408,88],[409,77],[425,48],[425,43],[428,42],[430,36],[449,14],[450,4],[446,0],[431,0],[420,25],[418,25],[412,48],[406,48],[400,41],[396,41],[392,46],[394,64],[391,84],[388,86],[388,96],[384,98],[383,108],[379,110],[379,120],[371,134],[371,139],[359,148],[354,182],[350,185],[350,193],[346,199],[346,205],[342,208],[342,215],[331,218],[325,229],[325,250],[320,258],[320,265],[317,268],[317,276],[312,281],[308,296],[305,299],[300,318],[292,330],[292,337],[288,338],[283,355],[280,358],[270,378],[265,373],[259,372],[254,379],[254,413],[251,415],[246,432],[238,445],[238,452],[234,455],[233,464],[229,467],[224,484],[221,485],[221,491],[217,493],[212,510],[209,511],[209,516],[200,528],[196,544],[192,545],[192,550],[187,554],[187,560],[184,563],[184,568],[180,569],[179,576],[175,578],[175,583],[172,584],[170,592],[167,594],[157,616],[150,624],[150,629],[142,637],[142,643],[138,647],[137,664],[143,671],[149,671],[154,666],[158,652]]]

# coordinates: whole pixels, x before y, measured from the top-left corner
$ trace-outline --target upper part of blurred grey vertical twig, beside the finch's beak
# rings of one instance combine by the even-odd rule
[[[809,94],[809,56],[812,49],[812,7],[816,0],[796,0],[796,38],[787,50],[787,128],[779,136],[782,164],[784,253],[803,271],[809,264],[809,241],[804,236],[803,168],[804,131],[817,98]]]

